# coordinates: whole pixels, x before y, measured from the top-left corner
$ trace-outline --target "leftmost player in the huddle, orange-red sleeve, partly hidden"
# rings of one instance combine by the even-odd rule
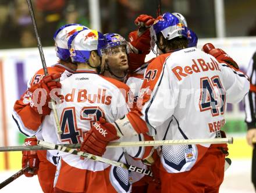
[[[67,40],[76,31],[83,30],[84,26],[80,24],[66,24],[59,28],[55,35],[56,55],[59,58],[58,63],[51,67],[47,67],[48,76],[44,76],[44,69],[38,70],[28,83],[28,89],[15,102],[13,108],[13,120],[17,124],[19,131],[29,138],[24,140],[24,145],[37,145],[37,139],[42,139],[42,122],[49,119],[51,109],[48,106],[49,92],[54,88],[61,88],[59,81],[71,76],[76,70],[76,64],[70,59],[69,49],[67,48]],[[42,104],[40,99],[33,98],[33,93],[37,88],[44,88],[47,91],[47,101]],[[54,123],[53,123],[54,124]],[[48,125],[51,127],[51,125]],[[35,135],[35,137],[33,137]],[[23,151],[22,152],[22,167],[29,165],[30,170],[25,173],[25,176],[32,177],[37,174],[42,191],[52,192],[54,186],[54,177],[56,164],[59,157],[53,155],[53,151]]]

